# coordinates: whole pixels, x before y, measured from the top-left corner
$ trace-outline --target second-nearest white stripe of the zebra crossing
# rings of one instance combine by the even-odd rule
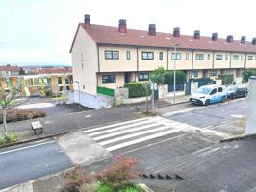
[[[150,132],[158,132],[158,131],[162,131],[162,130],[166,130],[166,129],[171,129],[171,128],[169,126],[158,127],[156,129],[147,130],[147,131],[144,131],[144,132],[136,132],[136,133],[128,134],[128,135],[125,135],[125,136],[120,136],[120,137],[117,137],[117,138],[114,138],[114,139],[111,139],[111,140],[102,141],[102,142],[99,142],[99,144],[100,145],[107,145],[107,144],[115,143],[116,141],[121,141],[121,140],[124,140],[124,139],[127,139],[127,138],[132,138],[132,137],[135,137],[135,136],[140,136],[142,134],[147,134],[147,133],[150,133]]]

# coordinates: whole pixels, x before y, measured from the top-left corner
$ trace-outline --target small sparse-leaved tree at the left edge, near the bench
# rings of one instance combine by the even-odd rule
[[[16,84],[15,86],[12,84],[10,88],[4,88],[2,83],[0,82],[0,105],[3,111],[3,126],[4,133],[7,134],[7,112],[8,109],[13,106],[13,100],[20,95],[21,92],[21,84]]]

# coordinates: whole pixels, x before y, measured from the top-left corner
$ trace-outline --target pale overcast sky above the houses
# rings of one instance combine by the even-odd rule
[[[71,64],[78,22],[235,39],[256,37],[255,0],[0,0],[0,64]]]

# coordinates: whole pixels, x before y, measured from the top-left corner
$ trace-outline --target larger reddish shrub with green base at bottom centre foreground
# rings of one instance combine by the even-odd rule
[[[137,163],[138,161],[134,158],[117,156],[115,157],[115,164],[109,166],[97,178],[103,185],[107,185],[114,190],[120,189],[129,184],[129,180],[139,177],[137,172],[132,171]]]

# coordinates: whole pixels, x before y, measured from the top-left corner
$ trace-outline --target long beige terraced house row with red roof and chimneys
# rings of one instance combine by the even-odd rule
[[[175,59],[176,69],[186,71],[188,79],[233,74],[241,82],[243,69],[256,68],[256,38],[252,42],[245,36],[222,39],[218,33],[204,37],[198,30],[187,36],[179,28],[162,33],[156,31],[155,24],[147,31],[135,30],[123,19],[117,27],[95,25],[90,24],[90,15],[79,23],[70,53],[75,93],[86,103],[98,102],[98,86],[115,89],[124,83],[146,81],[150,71],[159,66],[173,70]]]

